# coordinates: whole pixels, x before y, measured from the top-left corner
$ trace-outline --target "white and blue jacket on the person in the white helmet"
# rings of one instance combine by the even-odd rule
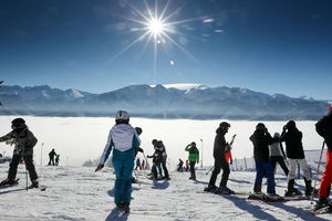
[[[139,147],[141,140],[136,130],[129,124],[118,124],[112,127],[100,164],[104,165],[112,148],[113,159],[135,159],[135,148]]]

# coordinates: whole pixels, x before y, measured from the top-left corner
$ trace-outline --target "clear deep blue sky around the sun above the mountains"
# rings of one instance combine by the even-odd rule
[[[154,11],[155,0],[146,2]],[[166,4],[157,1],[159,14]],[[144,20],[137,11],[148,17],[143,0],[1,1],[1,80],[92,93],[129,84],[201,83],[332,98],[331,1],[172,0],[167,6],[174,42],[157,38],[155,53],[154,39],[146,38],[120,53],[145,33],[134,21]]]

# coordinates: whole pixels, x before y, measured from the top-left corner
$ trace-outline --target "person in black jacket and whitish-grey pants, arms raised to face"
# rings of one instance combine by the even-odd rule
[[[294,120],[289,120],[287,125],[283,126],[280,140],[286,143],[286,154],[290,165],[288,173],[288,190],[284,196],[289,197],[293,194],[302,194],[300,190],[294,188],[297,164],[300,165],[300,168],[303,171],[305,196],[308,197],[312,194],[313,188],[311,187],[311,173],[304,157],[302,133],[297,128]]]

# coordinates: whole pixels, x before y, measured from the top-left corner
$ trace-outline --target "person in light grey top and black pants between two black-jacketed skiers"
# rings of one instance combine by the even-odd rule
[[[280,165],[282,168],[283,172],[286,176],[288,176],[289,170],[284,164],[286,155],[282,148],[282,145],[280,143],[280,134],[274,133],[273,135],[274,143],[269,145],[269,150],[270,150],[270,160],[272,162],[272,168],[273,171],[276,171],[277,162]]]

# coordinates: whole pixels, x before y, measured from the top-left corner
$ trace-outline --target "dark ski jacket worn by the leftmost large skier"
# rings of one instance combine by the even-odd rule
[[[28,127],[23,128],[21,131],[12,130],[3,137],[0,137],[0,141],[8,140],[11,140],[11,144],[14,145],[14,155],[32,155],[33,147],[38,143],[38,139]]]

